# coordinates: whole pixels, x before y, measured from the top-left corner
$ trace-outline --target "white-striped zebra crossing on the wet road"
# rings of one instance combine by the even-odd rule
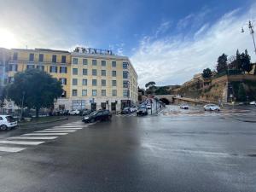
[[[17,153],[31,146],[37,146],[47,141],[55,140],[58,137],[67,136],[67,134],[82,130],[87,126],[81,121],[76,121],[20,136],[8,137],[0,140],[0,153]]]

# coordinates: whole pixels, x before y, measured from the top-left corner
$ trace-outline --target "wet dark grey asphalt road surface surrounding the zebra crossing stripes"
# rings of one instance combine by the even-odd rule
[[[0,153],[0,191],[256,191],[255,141],[256,124],[230,116],[118,116]]]

